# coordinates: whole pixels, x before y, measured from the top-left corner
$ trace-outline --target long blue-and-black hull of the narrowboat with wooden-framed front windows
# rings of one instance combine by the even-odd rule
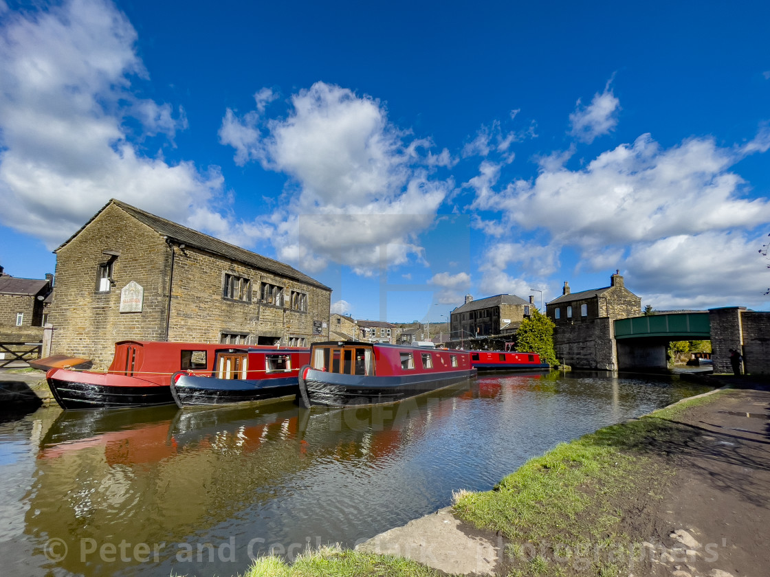
[[[347,407],[385,405],[460,385],[476,377],[476,369],[417,375],[340,375],[307,366],[300,370],[300,405]]]

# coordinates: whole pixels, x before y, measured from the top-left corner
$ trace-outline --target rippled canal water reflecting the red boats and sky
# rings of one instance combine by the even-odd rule
[[[39,409],[0,424],[2,575],[236,575],[352,547],[703,387],[495,375],[370,409]]]

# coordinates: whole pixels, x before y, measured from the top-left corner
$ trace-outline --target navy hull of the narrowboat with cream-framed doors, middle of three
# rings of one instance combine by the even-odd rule
[[[172,379],[175,380],[171,385],[171,394],[181,408],[291,399],[299,391],[296,375],[239,380],[182,374]]]

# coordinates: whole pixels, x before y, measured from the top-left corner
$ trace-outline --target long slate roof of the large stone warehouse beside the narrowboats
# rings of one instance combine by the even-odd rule
[[[63,242],[59,248],[56,248],[54,252],[58,252],[59,249],[61,249],[63,246],[69,244],[73,238],[80,234],[83,228],[91,224],[94,218],[104,212],[105,208],[107,208],[109,205],[115,205],[121,208],[133,218],[136,218],[136,220],[142,224],[149,226],[149,228],[152,228],[160,235],[173,238],[179,243],[193,246],[195,248],[200,248],[215,255],[232,258],[234,261],[243,262],[243,264],[261,268],[266,272],[273,272],[276,275],[294,278],[295,280],[306,282],[309,285],[325,288],[329,291],[331,290],[331,288],[328,286],[322,285],[320,282],[316,281],[315,278],[311,278],[310,276],[296,270],[296,268],[293,268],[290,265],[284,264],[283,262],[273,260],[273,258],[267,258],[263,255],[258,255],[256,252],[247,251],[245,248],[240,248],[236,245],[231,245],[229,242],[224,242],[219,240],[219,238],[205,235],[203,232],[198,232],[192,228],[179,225],[176,222],[167,220],[166,218],[152,215],[140,208],[136,208],[136,206],[128,205],[126,202],[116,200],[115,198],[111,198],[110,201],[99,210],[99,212],[92,216],[89,222],[86,222],[85,225],[82,225],[78,232],[75,232],[75,234]]]

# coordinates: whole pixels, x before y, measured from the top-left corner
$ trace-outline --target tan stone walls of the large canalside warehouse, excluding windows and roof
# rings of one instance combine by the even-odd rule
[[[112,257],[115,284],[100,292],[99,265],[110,258],[105,250],[119,255]],[[250,299],[223,296],[226,273],[249,279]],[[142,310],[119,312],[121,289],[132,281],[143,288]],[[260,301],[262,282],[283,287],[283,305]],[[307,295],[306,311],[292,309],[292,291]],[[57,252],[52,352],[92,359],[95,369],[105,369],[115,342],[166,340],[166,329],[168,340],[176,342],[219,342],[227,333],[243,335],[248,344],[286,345],[293,339],[292,344],[310,345],[329,337],[330,300],[325,288],[190,246],[172,248],[158,232],[109,205]],[[313,334],[314,322],[320,334]]]

